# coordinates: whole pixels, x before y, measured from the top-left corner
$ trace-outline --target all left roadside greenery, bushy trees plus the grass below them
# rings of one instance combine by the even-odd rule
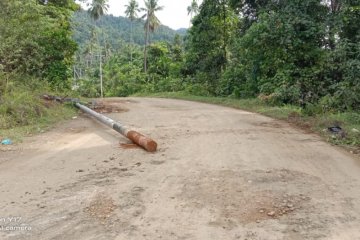
[[[47,2],[47,3],[46,3]],[[75,109],[42,94],[72,94],[73,1],[0,1],[0,140],[43,132]]]

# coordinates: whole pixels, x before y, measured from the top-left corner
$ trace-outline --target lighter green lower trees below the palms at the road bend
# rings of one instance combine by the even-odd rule
[[[120,44],[117,48],[96,48],[103,55],[105,96],[128,96],[137,92],[182,90],[180,69],[183,61],[182,41],[176,35],[170,43],[157,42],[148,47],[148,71],[143,68],[143,47]],[[131,58],[132,56],[132,58]],[[75,86],[81,95],[100,96],[99,57],[78,56]],[[132,59],[132,60],[131,60]]]

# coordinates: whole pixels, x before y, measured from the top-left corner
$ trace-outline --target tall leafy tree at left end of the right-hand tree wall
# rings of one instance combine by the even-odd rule
[[[227,66],[229,41],[234,34],[237,16],[230,9],[228,0],[205,0],[192,23],[183,71],[197,75],[196,80],[206,83],[208,90],[215,93]]]

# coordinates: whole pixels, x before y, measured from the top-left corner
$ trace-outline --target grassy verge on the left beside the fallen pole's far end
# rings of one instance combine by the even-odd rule
[[[77,115],[71,105],[40,99],[49,92],[40,83],[36,87],[13,84],[7,91],[0,91],[0,141],[9,138],[14,143],[20,142],[24,136],[44,132],[55,123]]]

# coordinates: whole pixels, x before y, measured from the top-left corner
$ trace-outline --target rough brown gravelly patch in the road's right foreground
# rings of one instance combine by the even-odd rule
[[[301,186],[305,179],[317,181],[287,170],[220,171],[197,176],[184,186],[180,197],[187,198],[189,206],[210,209],[215,218],[209,225],[232,229],[301,211],[311,198],[290,189]],[[268,189],[269,182],[275,187]]]

